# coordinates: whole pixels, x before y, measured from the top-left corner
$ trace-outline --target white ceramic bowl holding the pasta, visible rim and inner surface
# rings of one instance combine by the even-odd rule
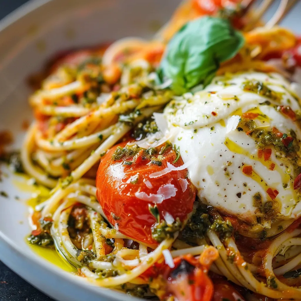
[[[163,25],[179,0],[40,0],[31,1],[0,22],[0,131],[14,134],[13,148],[23,139],[22,122],[32,117],[26,79],[58,51],[97,45],[125,36],[147,37]],[[301,33],[301,3],[284,25]],[[25,242],[30,232],[25,200],[29,191],[1,167],[0,259],[26,281],[60,301],[130,300],[95,287],[39,257]],[[20,200],[16,200],[19,196]]]

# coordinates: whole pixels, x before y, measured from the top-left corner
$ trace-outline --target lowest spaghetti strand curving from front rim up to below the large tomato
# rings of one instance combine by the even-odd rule
[[[114,287],[132,281],[157,262],[162,257],[162,251],[171,247],[172,242],[173,239],[163,240],[153,252],[141,259],[141,263],[137,267],[126,274],[100,279],[96,283],[102,287]]]

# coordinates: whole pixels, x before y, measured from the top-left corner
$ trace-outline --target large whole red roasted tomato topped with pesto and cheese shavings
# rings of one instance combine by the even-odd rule
[[[121,233],[154,245],[157,242],[152,238],[151,227],[156,218],[149,205],[157,206],[160,220],[170,223],[178,218],[183,222],[192,211],[196,188],[188,178],[188,170],[181,168],[183,161],[172,146],[132,152],[127,149],[125,156],[113,160],[116,153],[123,154],[125,146],[126,142],[114,146],[101,159],[97,198],[109,222]]]

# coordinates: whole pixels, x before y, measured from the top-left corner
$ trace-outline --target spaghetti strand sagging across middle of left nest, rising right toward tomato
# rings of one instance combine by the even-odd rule
[[[48,141],[42,138],[42,135],[36,136],[36,144],[48,151],[61,151],[61,150],[72,150],[81,147],[88,147],[92,144],[100,143],[104,139],[107,139],[110,135],[112,135],[113,131],[116,129],[116,126],[110,126],[109,128],[94,133],[90,136],[74,139],[74,140],[67,140],[64,142],[57,142],[57,141]]]

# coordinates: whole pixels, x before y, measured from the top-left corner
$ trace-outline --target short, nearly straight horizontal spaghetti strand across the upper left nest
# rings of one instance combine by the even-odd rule
[[[62,116],[68,117],[82,117],[87,115],[91,109],[87,109],[79,106],[68,106],[68,107],[58,107],[58,106],[42,106],[39,107],[39,111],[47,116]]]

